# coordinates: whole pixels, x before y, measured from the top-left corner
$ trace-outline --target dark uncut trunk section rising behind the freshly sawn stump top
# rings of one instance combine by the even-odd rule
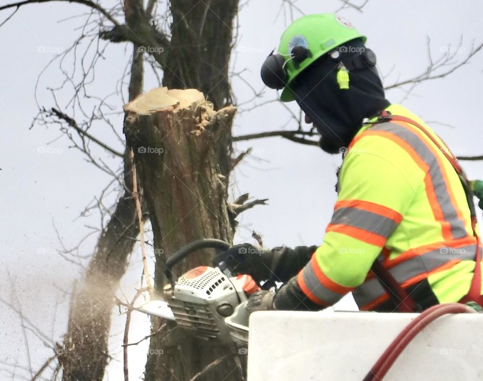
[[[239,0],[171,0],[163,86],[197,89],[219,110],[232,104],[228,75]]]

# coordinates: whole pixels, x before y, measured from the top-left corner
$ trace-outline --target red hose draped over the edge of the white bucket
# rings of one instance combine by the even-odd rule
[[[448,303],[438,304],[437,306],[433,306],[421,313],[396,336],[381,357],[379,357],[369,373],[364,377],[363,381],[381,380],[411,340],[413,340],[414,337],[427,325],[443,315],[462,313],[476,313],[476,311],[465,306],[465,304]]]

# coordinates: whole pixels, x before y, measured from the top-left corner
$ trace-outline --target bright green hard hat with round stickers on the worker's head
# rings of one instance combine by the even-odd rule
[[[333,13],[307,15],[295,20],[282,34],[278,48],[278,53],[285,59],[287,73],[287,83],[280,96],[281,101],[295,100],[290,84],[306,67],[327,52],[355,38],[366,41],[366,37],[349,21]],[[298,67],[295,67],[293,60],[290,59],[295,46],[303,46],[312,53],[312,56],[303,60]]]

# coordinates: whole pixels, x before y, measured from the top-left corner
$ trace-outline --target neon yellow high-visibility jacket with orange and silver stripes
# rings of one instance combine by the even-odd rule
[[[421,124],[446,147],[403,106],[386,110]],[[466,295],[476,255],[470,210],[457,173],[424,132],[400,121],[364,125],[338,188],[324,243],[297,276],[307,298],[324,307],[352,291],[360,310],[377,310],[389,296],[370,271],[376,260],[410,296],[422,283],[436,303]]]

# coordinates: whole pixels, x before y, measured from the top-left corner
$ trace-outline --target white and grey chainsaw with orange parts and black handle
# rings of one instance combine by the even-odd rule
[[[176,321],[183,329],[205,340],[246,344],[247,300],[261,289],[250,275],[233,276],[227,261],[221,260],[213,263],[213,267],[195,267],[177,282],[173,280],[173,266],[189,255],[202,249],[226,251],[230,247],[224,241],[203,239],[181,248],[166,261],[169,284],[164,287],[165,300],[151,300],[139,310]]]

